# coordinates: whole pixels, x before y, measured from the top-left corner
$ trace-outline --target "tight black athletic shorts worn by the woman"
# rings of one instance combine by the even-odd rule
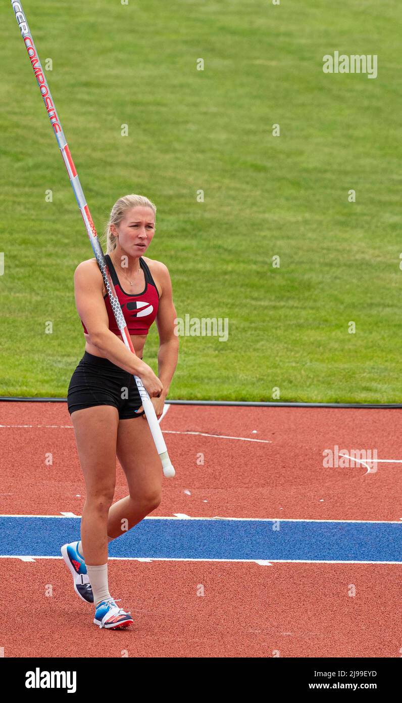
[[[120,420],[139,418],[144,411],[134,376],[103,356],[85,352],[69,382],[67,408],[69,414],[95,405],[112,405]]]

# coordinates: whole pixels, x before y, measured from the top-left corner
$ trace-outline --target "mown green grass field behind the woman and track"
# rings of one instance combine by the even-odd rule
[[[170,398],[402,401],[400,1],[23,7],[98,231],[147,195],[177,316],[229,318],[227,342],[180,337]],[[0,395],[66,396],[93,254],[9,2],[0,19]],[[324,74],[335,50],[378,77]],[[157,347],[154,328],[154,370]]]

